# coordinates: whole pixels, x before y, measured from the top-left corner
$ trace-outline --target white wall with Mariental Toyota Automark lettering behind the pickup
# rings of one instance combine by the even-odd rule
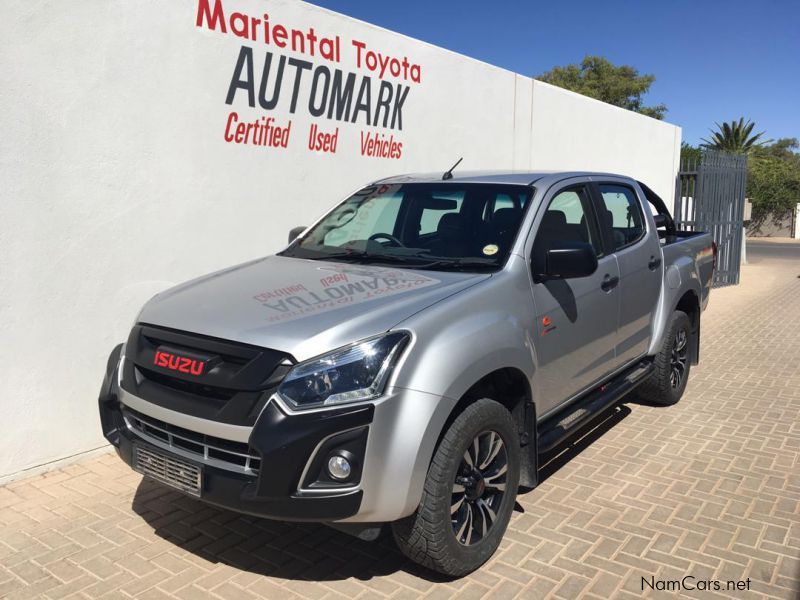
[[[197,0],[4,3],[0,477],[103,444],[105,359],[145,300],[277,250],[290,227],[370,179],[464,156],[464,169],[610,169],[671,198],[677,127],[307,4],[222,6],[338,34],[341,63],[198,28]],[[353,39],[421,65],[420,83],[386,77],[411,87],[402,131],[313,119],[303,100],[290,115],[287,84],[270,113],[241,91],[225,103],[243,44],[256,73],[272,51],[369,74]],[[231,110],[291,118],[288,148],[226,143]],[[336,154],[307,149],[312,123],[338,125]],[[394,135],[402,158],[361,156],[362,131]]]

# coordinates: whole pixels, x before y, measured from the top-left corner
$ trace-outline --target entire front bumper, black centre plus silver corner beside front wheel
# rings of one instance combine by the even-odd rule
[[[134,446],[172,455],[202,469],[200,499],[237,512],[286,521],[379,523],[411,514],[419,504],[430,458],[450,409],[447,399],[389,390],[374,403],[290,413],[267,403],[252,428],[189,418],[133,396],[120,385],[121,348],[109,357],[99,399],[106,439],[133,467]],[[165,447],[131,427],[130,411],[248,447],[257,473],[219,468],[214,461]],[[222,438],[222,439],[220,439]],[[332,450],[356,458],[351,481],[336,485],[319,474]],[[208,452],[206,452],[208,455]]]

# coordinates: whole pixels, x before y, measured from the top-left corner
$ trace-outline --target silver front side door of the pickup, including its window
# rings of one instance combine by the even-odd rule
[[[588,277],[531,278],[538,418],[591,388],[613,369],[620,295],[617,259],[604,253],[588,182],[549,192],[542,207],[534,221],[531,273],[544,271],[548,249],[570,241],[590,243],[598,267]]]

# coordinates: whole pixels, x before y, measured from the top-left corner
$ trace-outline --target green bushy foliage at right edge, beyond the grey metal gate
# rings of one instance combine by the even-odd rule
[[[797,139],[783,138],[755,148],[747,161],[747,196],[753,221],[781,217],[800,202],[800,148]]]

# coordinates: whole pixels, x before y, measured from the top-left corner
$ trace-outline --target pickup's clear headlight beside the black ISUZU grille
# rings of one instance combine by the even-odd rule
[[[390,333],[300,363],[283,380],[278,394],[298,409],[380,396],[408,339],[408,333]]]

